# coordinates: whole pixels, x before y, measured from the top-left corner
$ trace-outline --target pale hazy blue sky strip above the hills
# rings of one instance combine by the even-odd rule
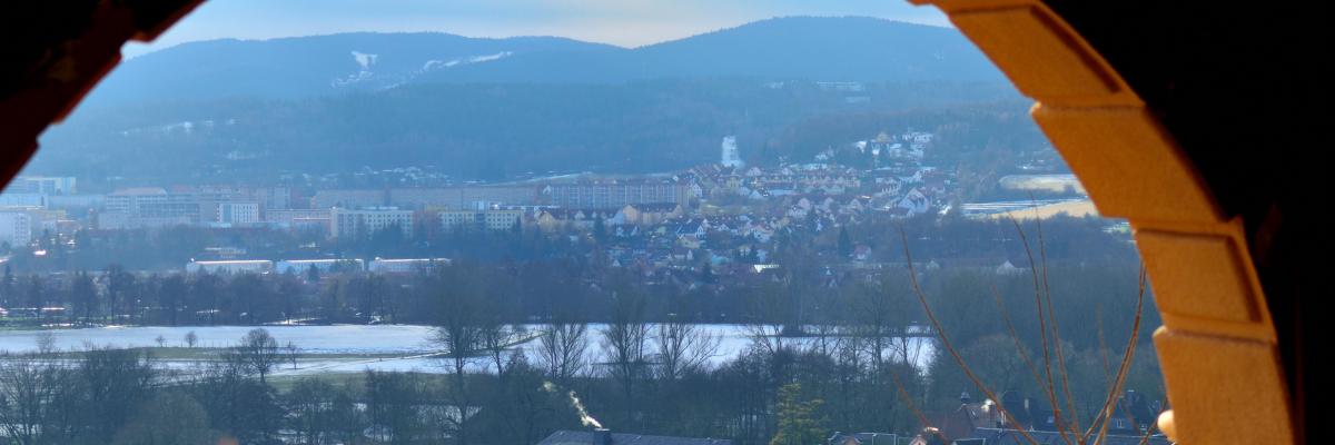
[[[475,37],[565,36],[637,47],[777,16],[873,16],[949,25],[905,0],[207,0],[152,44],[350,31],[438,31]]]

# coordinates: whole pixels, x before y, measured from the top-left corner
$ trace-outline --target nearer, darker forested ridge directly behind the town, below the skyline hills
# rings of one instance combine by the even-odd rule
[[[980,100],[1005,106],[980,108]],[[952,126],[977,134],[983,147],[1016,131],[1036,135],[1025,107],[1000,84],[868,83],[856,92],[753,80],[410,84],[84,110],[43,136],[29,170],[212,182],[406,166],[493,180],[553,170],[650,172],[717,162],[725,135],[737,135],[748,163],[764,164],[905,128]]]

